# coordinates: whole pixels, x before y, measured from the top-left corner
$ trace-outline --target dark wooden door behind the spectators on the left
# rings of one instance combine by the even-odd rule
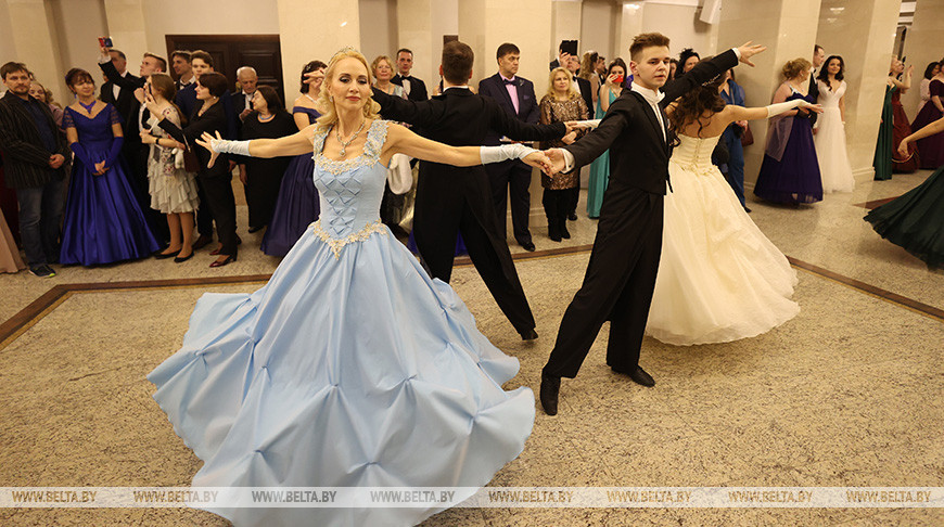
[[[235,72],[242,66],[252,66],[259,76],[259,86],[271,86],[285,102],[282,86],[282,51],[278,35],[167,35],[167,56],[175,50],[203,50],[213,56],[214,69],[229,80],[230,91],[235,93]],[[173,75],[173,68],[171,68]]]

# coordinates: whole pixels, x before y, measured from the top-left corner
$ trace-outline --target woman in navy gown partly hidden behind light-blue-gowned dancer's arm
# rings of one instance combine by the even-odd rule
[[[321,61],[311,61],[302,69],[302,95],[295,99],[292,116],[295,126],[302,130],[315,123],[321,114],[315,110],[315,101],[324,80]],[[270,256],[285,256],[305,229],[318,219],[320,204],[315,189],[315,159],[311,154],[295,156],[285,169],[272,220],[263,237],[263,253]]]

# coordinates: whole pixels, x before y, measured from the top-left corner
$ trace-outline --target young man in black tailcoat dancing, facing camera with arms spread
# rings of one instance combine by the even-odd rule
[[[700,62],[681,79],[668,78],[668,38],[637,35],[629,48],[632,90],[610,105],[597,130],[564,149],[553,149],[554,169],[578,169],[610,151],[610,184],[584,284],[561,321],[541,372],[540,402],[558,411],[561,377],[575,377],[603,322],[610,320],[607,363],[643,386],[655,381],[639,368],[662,252],[663,198],[668,182],[673,133],[663,108],[685,92],[763,51],[750,42]],[[659,89],[664,91],[660,93]],[[671,183],[669,183],[671,189]]]

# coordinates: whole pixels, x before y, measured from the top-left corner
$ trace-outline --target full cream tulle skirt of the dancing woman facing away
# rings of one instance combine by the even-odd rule
[[[792,319],[796,272],[714,166],[668,165],[662,259],[647,334],[667,344],[725,343]]]

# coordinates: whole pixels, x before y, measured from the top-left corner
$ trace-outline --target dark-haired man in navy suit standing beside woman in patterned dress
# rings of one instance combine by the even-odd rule
[[[518,65],[521,51],[513,43],[498,47],[498,73],[479,82],[479,94],[495,99],[499,106],[509,114],[528,124],[536,124],[540,117],[537,98],[534,95],[534,83],[518,77]],[[501,133],[492,133],[485,139],[486,146],[501,144]],[[485,167],[492,180],[492,195],[498,214],[501,232],[507,229],[508,196],[511,196],[511,224],[514,239],[525,250],[534,250],[527,220],[531,213],[531,167],[512,159],[492,163]]]

